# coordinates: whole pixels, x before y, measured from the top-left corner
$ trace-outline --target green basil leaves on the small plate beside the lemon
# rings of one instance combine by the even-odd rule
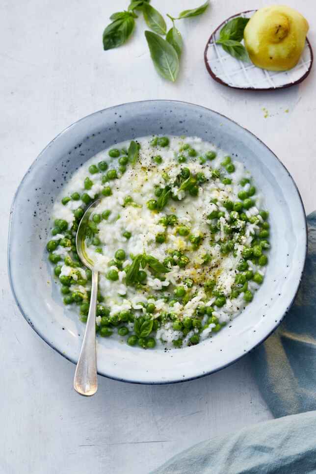
[[[243,32],[248,21],[249,18],[233,18],[222,27],[219,32],[219,39],[216,41],[216,44],[221,45],[226,53],[246,62],[249,61],[249,56],[240,41],[243,39]]]

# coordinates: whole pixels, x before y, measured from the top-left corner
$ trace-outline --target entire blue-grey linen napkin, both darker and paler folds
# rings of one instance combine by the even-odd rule
[[[307,222],[308,255],[295,302],[248,356],[277,419],[203,441],[152,474],[316,474],[316,212]]]

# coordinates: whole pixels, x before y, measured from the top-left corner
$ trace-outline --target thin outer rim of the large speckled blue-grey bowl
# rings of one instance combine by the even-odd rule
[[[283,316],[274,324],[273,328],[271,331],[269,331],[257,344],[255,344],[254,346],[252,346],[251,349],[245,351],[243,354],[241,354],[239,357],[235,358],[234,360],[230,361],[229,363],[227,364],[223,364],[222,366],[218,367],[217,369],[212,369],[210,371],[206,371],[206,372],[203,372],[203,373],[198,373],[197,375],[194,375],[192,377],[185,377],[185,378],[179,378],[179,379],[173,379],[173,380],[166,380],[166,381],[139,381],[139,380],[132,380],[132,378],[129,378],[129,379],[125,379],[125,378],[122,378],[122,377],[115,377],[115,376],[110,376],[104,372],[101,372],[98,370],[98,374],[103,376],[103,377],[106,377],[106,378],[110,378],[112,380],[117,380],[117,381],[121,381],[121,382],[128,382],[128,383],[133,383],[133,384],[140,384],[140,385],[167,385],[167,384],[172,384],[172,383],[181,383],[181,382],[188,382],[190,380],[195,380],[195,379],[199,379],[199,378],[202,378],[202,377],[205,377],[206,375],[210,375],[211,373],[216,373],[222,369],[225,369],[226,367],[229,367],[231,366],[232,364],[235,364],[235,362],[237,362],[239,359],[241,359],[242,357],[244,357],[245,355],[247,355],[249,352],[251,352],[252,350],[254,350],[256,347],[258,347],[260,344],[262,344],[276,329],[277,327],[280,325],[280,323],[283,321],[284,317],[286,316],[286,314],[289,312],[290,310],[290,307],[292,306],[294,300],[295,300],[295,297],[296,297],[296,294],[297,294],[297,291],[299,289],[299,286],[300,286],[300,283],[301,283],[301,280],[302,280],[302,275],[303,275],[303,272],[304,272],[304,268],[305,268],[305,264],[306,264],[306,257],[307,257],[307,250],[308,250],[308,234],[307,234],[307,220],[306,220],[306,213],[305,213],[305,209],[304,209],[304,205],[303,205],[303,201],[302,201],[302,197],[300,195],[300,192],[298,190],[298,187],[294,181],[294,179],[292,178],[289,170],[286,168],[286,166],[282,163],[282,161],[275,155],[275,153],[272,152],[272,150],[267,147],[265,145],[265,143],[260,139],[258,138],[254,133],[250,132],[248,129],[246,129],[245,127],[242,127],[241,125],[239,125],[236,121],[230,119],[229,117],[227,117],[226,115],[223,115],[219,112],[216,112],[215,110],[212,110],[208,107],[205,107],[203,105],[196,105],[196,104],[193,104],[193,103],[189,103],[189,102],[185,102],[185,101],[175,101],[175,100],[165,100],[165,99],[157,99],[157,100],[146,100],[146,101],[135,101],[135,102],[129,102],[129,103],[123,103],[123,104],[119,104],[119,105],[113,105],[111,107],[106,107],[105,109],[100,109],[96,112],[93,112],[92,114],[89,114],[89,115],[86,115],[85,117],[82,117],[81,119],[79,119],[78,121],[74,122],[73,124],[69,125],[68,127],[66,127],[62,132],[60,132],[58,135],[56,135],[53,140],[51,140],[51,142],[41,151],[41,153],[38,155],[37,158],[35,158],[35,160],[33,161],[33,163],[29,166],[29,168],[27,169],[21,183],[19,184],[15,194],[14,194],[14,197],[13,197],[13,201],[12,201],[12,205],[11,205],[11,209],[10,209],[10,220],[9,220],[9,232],[8,232],[8,248],[7,248],[7,264],[8,264],[8,277],[9,277],[9,283],[10,283],[10,287],[11,287],[11,290],[12,290],[12,294],[14,296],[14,299],[15,299],[15,302],[22,314],[22,316],[25,318],[26,322],[31,326],[31,328],[40,336],[40,338],[45,341],[53,350],[55,350],[56,352],[58,352],[60,355],[62,355],[65,359],[67,359],[68,361],[72,362],[73,364],[77,364],[78,360],[77,359],[73,359],[72,357],[68,356],[65,352],[62,352],[61,350],[59,350],[58,348],[56,348],[53,343],[51,343],[47,336],[45,334],[42,334],[39,329],[36,327],[36,325],[33,324],[31,318],[29,317],[29,315],[26,314],[26,312],[24,311],[17,295],[16,295],[16,292],[15,292],[15,288],[14,288],[14,283],[13,283],[13,280],[12,280],[12,273],[11,273],[11,255],[10,255],[10,249],[11,249],[11,226],[12,226],[12,213],[13,213],[13,210],[14,210],[14,206],[15,206],[15,202],[17,200],[17,197],[19,195],[19,192],[20,192],[20,189],[21,189],[21,186],[22,184],[24,183],[25,179],[26,179],[26,176],[32,171],[32,168],[34,167],[35,163],[37,163],[37,161],[42,157],[42,155],[45,153],[45,151],[51,146],[51,144],[59,139],[63,134],[65,134],[68,130],[70,130],[71,128],[73,128],[74,126],[76,126],[76,124],[78,124],[79,122],[81,121],[84,121],[85,119],[87,119],[88,117],[92,117],[94,115],[98,115],[100,113],[102,113],[104,110],[109,110],[109,109],[118,109],[119,107],[122,107],[122,106],[125,106],[125,105],[134,105],[134,104],[139,104],[139,103],[180,103],[180,104],[184,104],[184,105],[189,105],[189,106],[194,106],[194,107],[197,107],[197,108],[201,108],[203,110],[207,110],[207,111],[211,111],[213,112],[214,114],[217,114],[218,116],[220,117],[223,117],[227,120],[229,120],[230,122],[234,123],[237,127],[239,127],[240,129],[243,129],[245,132],[247,133],[250,133],[258,142],[260,142],[270,153],[271,155],[273,155],[274,158],[276,158],[276,160],[282,165],[282,167],[286,170],[286,172],[288,173],[288,176],[290,178],[290,180],[292,181],[292,184],[294,185],[296,191],[297,191],[297,195],[298,195],[298,198],[299,198],[299,202],[300,202],[300,205],[301,205],[301,210],[302,210],[302,215],[304,216],[304,225],[305,225],[305,253],[304,253],[304,262],[302,264],[302,270],[301,270],[301,273],[300,273],[300,276],[297,280],[297,285],[296,285],[296,288],[293,292],[293,297],[290,301],[290,304],[287,308],[287,310],[284,312]]]

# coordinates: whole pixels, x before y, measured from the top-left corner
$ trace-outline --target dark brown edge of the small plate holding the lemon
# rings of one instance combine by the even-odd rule
[[[230,16],[229,18],[227,18],[226,20],[224,20],[219,26],[217,26],[216,29],[214,29],[214,31],[211,33],[211,36],[209,37],[208,39],[208,42],[206,44],[206,47],[205,47],[205,50],[204,50],[204,62],[205,62],[205,66],[206,66],[206,69],[208,70],[208,73],[210,74],[211,78],[214,79],[216,82],[218,82],[219,84],[222,84],[222,85],[225,85],[226,87],[230,87],[231,89],[236,89],[236,90],[251,90],[251,91],[267,91],[267,90],[280,90],[280,89],[286,89],[288,87],[291,87],[292,85],[296,85],[296,84],[299,84],[300,82],[302,82],[304,79],[307,78],[307,76],[310,74],[311,72],[311,69],[312,69],[312,66],[313,66],[313,61],[314,61],[314,54],[313,54],[313,50],[312,50],[312,46],[311,46],[311,43],[309,42],[309,39],[306,37],[306,42],[307,42],[307,45],[310,49],[310,53],[311,53],[311,64],[310,64],[310,67],[308,68],[308,71],[306,71],[306,73],[299,79],[297,79],[295,82],[289,82],[288,84],[284,84],[284,85],[280,85],[278,87],[266,87],[266,88],[256,88],[256,87],[236,87],[236,86],[233,86],[233,85],[229,85],[227,84],[227,82],[224,82],[222,79],[219,79],[218,76],[216,76],[210,65],[209,65],[209,61],[208,61],[208,58],[207,58],[207,53],[208,53],[208,49],[209,49],[209,44],[211,42],[211,38],[212,36],[216,33],[216,31],[219,30],[219,28],[221,26],[223,26],[226,22],[228,22],[229,20],[231,20],[232,18],[235,18],[239,15],[242,15],[244,13],[250,13],[250,12],[255,12],[257,10],[246,10],[246,11],[242,11],[240,13],[235,13],[235,15],[232,15]]]

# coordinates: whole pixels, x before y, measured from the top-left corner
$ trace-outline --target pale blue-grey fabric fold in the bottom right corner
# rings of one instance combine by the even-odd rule
[[[316,411],[202,441],[152,474],[315,474]]]

